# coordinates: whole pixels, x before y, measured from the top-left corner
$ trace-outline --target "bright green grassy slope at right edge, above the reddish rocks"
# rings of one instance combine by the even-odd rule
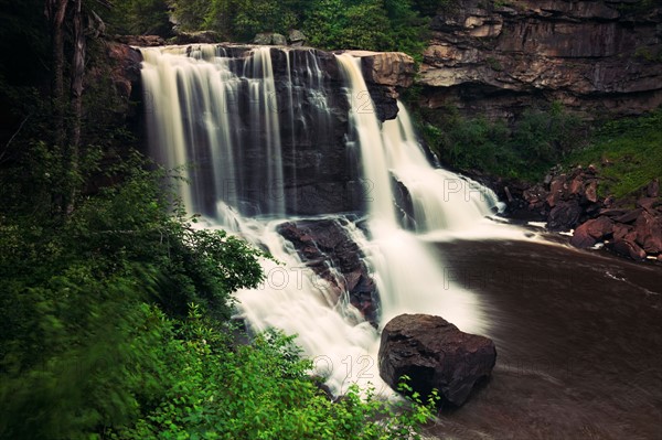
[[[591,142],[564,162],[596,165],[602,178],[600,193],[624,197],[647,185],[662,181],[662,108],[637,118],[605,122]]]

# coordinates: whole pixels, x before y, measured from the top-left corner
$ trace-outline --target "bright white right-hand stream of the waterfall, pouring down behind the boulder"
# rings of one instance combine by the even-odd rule
[[[356,96],[366,90],[360,60],[340,55],[338,61],[346,77],[349,94]],[[430,313],[444,316],[463,331],[484,332],[485,320],[473,293],[452,285],[445,277],[438,255],[397,222],[389,170],[397,178],[406,178],[402,179],[405,184],[415,183],[412,195],[424,198],[423,202],[415,201],[415,205],[421,206],[426,224],[434,224],[436,216],[448,218],[453,211],[465,211],[463,216],[469,217],[466,222],[477,222],[483,216],[481,211],[487,213],[489,207],[477,208],[478,203],[473,198],[468,202],[460,198],[459,202],[465,202],[461,204],[457,200],[453,204],[444,203],[442,195],[435,195],[441,186],[435,184],[442,182],[448,174],[437,174],[418,144],[408,138],[413,133],[408,119],[401,115],[382,129],[372,103],[367,110],[352,111],[350,120],[361,146],[364,175],[374,184],[374,196],[369,203],[372,239],[365,240],[363,248],[369,255],[380,291],[381,325],[403,313]],[[421,160],[418,160],[419,157]],[[459,176],[456,175],[455,180]],[[465,223],[465,226],[469,225]]]

